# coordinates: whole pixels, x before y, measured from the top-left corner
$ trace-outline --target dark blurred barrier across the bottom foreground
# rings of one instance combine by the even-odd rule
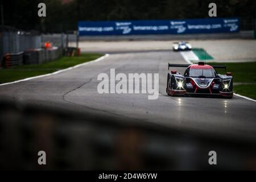
[[[256,169],[255,138],[39,105],[0,101],[0,169]],[[212,150],[217,166],[208,163]],[[45,166],[38,164],[39,151],[46,152]]]

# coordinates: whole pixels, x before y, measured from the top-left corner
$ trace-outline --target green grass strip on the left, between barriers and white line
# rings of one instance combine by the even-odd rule
[[[20,65],[17,67],[0,69],[0,84],[56,72],[60,69],[95,60],[101,56],[101,54],[97,53],[83,53],[79,57],[61,57],[60,59],[49,61],[44,64]]]

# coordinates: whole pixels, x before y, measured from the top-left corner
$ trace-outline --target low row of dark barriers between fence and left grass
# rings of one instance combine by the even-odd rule
[[[22,64],[42,64],[58,59],[61,54],[61,49],[58,47],[51,49],[29,49],[19,53],[7,53],[3,57],[1,66],[3,68],[9,68]]]

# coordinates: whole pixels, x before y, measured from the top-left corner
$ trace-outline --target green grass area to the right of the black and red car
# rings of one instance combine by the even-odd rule
[[[234,92],[242,96],[256,99],[256,62],[247,63],[207,63],[210,65],[226,65],[226,72],[232,72],[233,81],[252,83],[246,85],[234,85]],[[224,69],[216,69],[220,74],[225,74]]]

